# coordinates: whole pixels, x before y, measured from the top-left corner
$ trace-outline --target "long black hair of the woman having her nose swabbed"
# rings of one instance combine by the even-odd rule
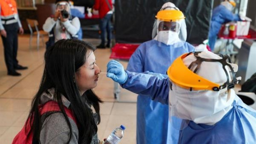
[[[100,123],[100,106],[102,102],[90,89],[84,92],[82,99],[75,82],[75,72],[78,71],[86,62],[86,53],[88,50],[95,51],[95,47],[89,43],[80,40],[59,40],[53,46],[49,47],[45,54],[45,67],[40,87],[32,100],[31,109],[28,115],[26,125],[31,125],[30,132],[33,132],[33,142],[40,140],[41,117],[38,106],[43,92],[54,88],[54,99],[63,113],[70,130],[69,141],[71,140],[72,128],[68,116],[64,111],[61,95],[70,101],[70,108],[76,118],[79,131],[78,143],[91,143],[92,137],[97,133],[97,125],[92,116],[92,110],[87,104],[92,105],[98,114],[98,124]],[[29,120],[29,117],[32,117]],[[30,133],[29,132],[29,133]]]

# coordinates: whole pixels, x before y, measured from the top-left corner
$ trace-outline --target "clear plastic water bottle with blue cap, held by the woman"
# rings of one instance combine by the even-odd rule
[[[124,136],[124,130],[125,127],[123,125],[116,128],[113,132],[111,132],[111,134],[108,136],[108,139],[104,141],[103,144],[118,144]]]

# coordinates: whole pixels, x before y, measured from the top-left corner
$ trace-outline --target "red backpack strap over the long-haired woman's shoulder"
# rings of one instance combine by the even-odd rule
[[[68,117],[70,117],[75,123],[76,123],[76,118],[73,115],[71,109],[68,109],[64,106],[64,110],[67,114]],[[60,107],[56,101],[50,100],[46,102],[41,108],[39,108],[41,116],[49,111],[60,111]],[[76,123],[77,124],[77,123]]]

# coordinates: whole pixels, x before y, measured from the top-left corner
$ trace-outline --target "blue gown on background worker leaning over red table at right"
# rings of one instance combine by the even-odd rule
[[[212,11],[212,20],[209,30],[209,45],[213,51],[217,35],[220,31],[221,25],[229,21],[241,20],[238,14],[233,14],[224,5],[215,7]]]

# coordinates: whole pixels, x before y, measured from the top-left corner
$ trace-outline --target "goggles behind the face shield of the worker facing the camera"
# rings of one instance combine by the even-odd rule
[[[180,30],[180,23],[179,22],[167,22],[161,21],[158,25],[158,31],[165,31],[170,30],[173,32],[178,32]]]

